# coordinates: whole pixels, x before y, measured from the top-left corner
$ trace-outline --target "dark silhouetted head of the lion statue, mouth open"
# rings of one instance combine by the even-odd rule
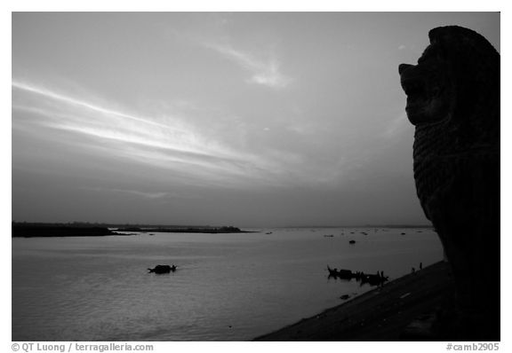
[[[434,28],[428,38],[417,65],[398,67],[413,125],[468,119],[490,99],[499,106],[500,55],[491,43],[458,26]]]

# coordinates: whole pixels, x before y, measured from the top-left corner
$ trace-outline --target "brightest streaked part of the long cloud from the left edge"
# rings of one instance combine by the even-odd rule
[[[179,116],[126,113],[27,82],[12,82],[12,108],[44,119],[13,120],[13,128],[68,131],[93,138],[111,158],[129,158],[204,184],[276,183],[276,163],[237,151],[183,122]],[[153,194],[157,197],[158,193]]]

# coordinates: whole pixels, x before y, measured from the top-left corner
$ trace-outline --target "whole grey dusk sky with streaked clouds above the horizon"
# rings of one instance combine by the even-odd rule
[[[492,12],[14,12],[12,220],[428,224],[397,67]]]

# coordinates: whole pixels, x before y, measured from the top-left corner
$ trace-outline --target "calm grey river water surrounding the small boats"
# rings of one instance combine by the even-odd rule
[[[251,340],[371,289],[327,264],[392,279],[441,259],[416,229],[12,239],[12,341]]]

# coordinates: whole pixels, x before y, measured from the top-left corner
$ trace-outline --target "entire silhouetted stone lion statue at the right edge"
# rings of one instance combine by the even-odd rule
[[[456,338],[500,341],[500,54],[463,27],[428,37],[398,69],[416,190],[457,286]]]

